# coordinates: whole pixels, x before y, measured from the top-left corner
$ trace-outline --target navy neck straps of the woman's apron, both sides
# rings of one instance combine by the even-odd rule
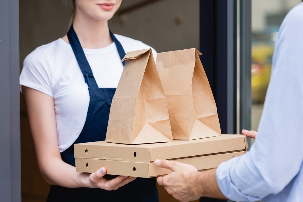
[[[121,43],[118,41],[118,39],[113,35],[113,33],[111,31],[110,32],[110,36],[112,37],[113,41],[116,44],[118,53],[120,55],[121,60],[123,59],[123,57],[125,56],[125,51],[121,45]],[[97,87],[98,84],[94,78],[93,75],[93,71],[90,68],[90,65],[85,57],[83,48],[80,44],[80,41],[77,37],[77,34],[73,28],[73,26],[71,26],[69,28],[69,31],[67,32],[67,37],[69,39],[69,44],[72,46],[72,50],[75,54],[75,57],[77,59],[78,65],[82,71],[82,74],[84,76],[84,80],[86,82],[86,84],[88,85],[88,87]],[[125,62],[123,62],[123,66],[124,66]]]

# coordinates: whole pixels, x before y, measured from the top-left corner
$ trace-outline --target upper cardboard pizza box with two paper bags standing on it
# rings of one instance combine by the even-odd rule
[[[197,149],[192,149],[192,150],[188,150],[188,148],[191,148],[191,146],[189,145],[169,146],[173,142],[141,144],[141,145],[128,145],[128,144],[104,142],[105,145],[103,146],[98,145],[98,143],[102,144],[103,141],[80,143],[80,144],[74,144],[74,156],[76,158],[95,158],[95,159],[103,159],[103,160],[133,161],[133,162],[148,163],[154,161],[155,159],[178,159],[185,157],[226,153],[232,151],[243,151],[247,149],[246,136],[228,135],[228,138],[226,139],[217,140],[218,138],[224,138],[224,137],[227,136],[223,134],[221,136],[210,137],[208,139],[204,138],[204,139],[183,141],[185,143],[195,142],[194,145],[196,145],[195,147],[197,147]],[[201,144],[197,143],[197,141],[199,140],[206,141],[209,139],[215,139],[215,140],[204,142],[203,147],[201,147]],[[217,141],[219,141],[219,143]],[[177,141],[177,142],[181,142],[181,141]],[[152,147],[153,145],[158,145],[159,147]],[[166,146],[161,146],[161,145],[166,145]],[[173,147],[174,149],[171,149]]]

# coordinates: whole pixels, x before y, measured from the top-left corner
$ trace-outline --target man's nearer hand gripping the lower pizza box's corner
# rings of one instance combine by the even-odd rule
[[[168,160],[155,160],[155,164],[173,171],[168,175],[158,177],[157,182],[164,186],[174,198],[180,201],[192,201],[201,197],[195,193],[197,187],[194,187],[194,176],[198,171],[194,166]]]

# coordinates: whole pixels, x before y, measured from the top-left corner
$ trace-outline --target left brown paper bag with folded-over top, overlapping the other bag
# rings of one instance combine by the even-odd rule
[[[124,144],[172,141],[165,95],[151,49],[128,52],[124,60],[105,141]]]

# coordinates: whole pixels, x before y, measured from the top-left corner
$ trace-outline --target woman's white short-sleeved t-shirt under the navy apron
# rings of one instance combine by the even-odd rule
[[[141,41],[115,36],[126,53],[151,48]],[[99,88],[116,88],[123,71],[116,44],[83,50]],[[157,52],[152,51],[156,59]],[[54,98],[59,150],[69,148],[82,131],[89,105],[88,86],[71,46],[59,38],[32,51],[23,62],[21,92],[22,85]]]

